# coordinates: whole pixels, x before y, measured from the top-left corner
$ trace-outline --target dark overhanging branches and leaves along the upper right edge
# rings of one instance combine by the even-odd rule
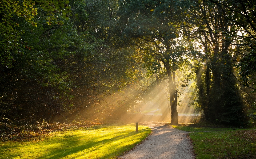
[[[256,77],[256,65],[255,65],[255,45],[256,45],[256,19],[255,19],[255,1],[250,0],[227,0],[227,1],[213,1],[224,13],[224,18],[229,23],[233,24],[229,34],[235,37],[235,41],[229,41],[232,45],[237,46],[237,50],[242,58],[237,58],[239,64],[238,68],[241,69],[239,75],[243,81],[243,85],[256,91],[255,77]],[[237,32],[241,34],[237,34]]]

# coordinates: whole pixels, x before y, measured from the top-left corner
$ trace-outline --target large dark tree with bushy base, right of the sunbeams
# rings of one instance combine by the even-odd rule
[[[194,3],[186,22],[190,28],[189,36],[197,40],[198,48],[203,52],[200,56],[205,56],[202,58],[204,68],[195,70],[203,116],[210,122],[244,125],[246,108],[236,84],[233,68],[236,54],[233,54],[230,43],[234,37],[227,34],[234,24],[227,21],[223,10],[210,1]]]

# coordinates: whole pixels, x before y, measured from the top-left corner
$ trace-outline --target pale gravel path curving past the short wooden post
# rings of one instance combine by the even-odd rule
[[[123,159],[194,159],[193,147],[186,131],[174,129],[167,123],[140,122],[152,133],[140,145],[118,158]]]

